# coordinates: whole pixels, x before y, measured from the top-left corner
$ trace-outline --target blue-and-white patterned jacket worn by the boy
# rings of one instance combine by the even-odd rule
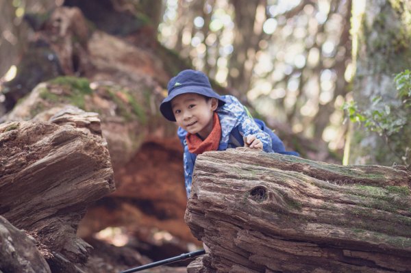
[[[242,136],[256,135],[261,140],[263,151],[267,153],[282,153],[288,155],[298,155],[295,152],[286,152],[282,141],[266,127],[262,120],[251,118],[245,107],[234,96],[222,96],[225,105],[216,109],[221,124],[221,140],[218,151],[225,151],[227,148],[244,146]],[[194,169],[197,155],[188,151],[186,143],[187,131],[178,127],[177,135],[184,147],[184,179],[186,184],[187,198],[190,197],[192,170]]]

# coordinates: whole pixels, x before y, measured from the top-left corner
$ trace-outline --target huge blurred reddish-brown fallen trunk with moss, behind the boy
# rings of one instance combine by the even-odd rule
[[[77,2],[80,6],[94,7],[110,4],[110,1],[102,4],[99,0]],[[121,10],[127,12],[127,8]],[[53,62],[32,62],[33,66],[27,69],[23,69],[23,64],[18,66],[16,81],[8,83],[10,93],[6,97],[10,96],[12,101],[21,99],[23,94],[12,93],[21,90],[21,86],[29,92],[34,83],[38,84],[11,112],[5,116],[0,114],[0,123],[47,121],[66,105],[98,112],[103,137],[108,142],[117,190],[88,207],[77,235],[89,239],[108,226],[123,226],[132,237],[157,248],[150,242],[153,234],[150,231],[156,229],[177,237],[184,250],[169,248],[175,252],[161,251],[158,253],[164,256],[152,256],[151,259],[188,252],[189,242],[199,242],[184,222],[187,198],[182,146],[175,134],[175,125],[158,112],[166,83],[175,71],[188,68],[185,62],[179,62],[177,55],[160,46],[151,36],[130,34],[133,37],[125,39],[96,29],[97,22],[84,18],[78,8],[56,8],[50,11],[49,17],[41,18],[46,21],[34,29],[33,36],[36,44],[42,44],[41,50],[32,47],[27,50],[35,51],[30,60],[47,60],[52,56]],[[127,28],[127,25],[117,27]],[[153,47],[142,46],[147,44],[146,41],[155,42],[155,51]],[[50,67],[53,63],[64,70],[61,74],[80,77],[59,77],[40,83],[56,77],[45,71],[53,68]],[[43,71],[47,77],[36,77],[38,80],[34,81],[32,76]],[[30,80],[27,88],[21,83],[25,79]]]

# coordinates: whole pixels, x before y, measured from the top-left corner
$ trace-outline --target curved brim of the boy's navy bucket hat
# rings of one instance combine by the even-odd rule
[[[167,96],[160,105],[160,112],[164,118],[175,121],[173,114],[173,109],[171,109],[171,100],[176,96],[186,93],[196,93],[203,96],[208,96],[210,98],[216,98],[219,100],[219,106],[225,104],[225,100],[211,88],[206,88],[204,86],[182,86],[181,88],[173,90],[169,96]]]

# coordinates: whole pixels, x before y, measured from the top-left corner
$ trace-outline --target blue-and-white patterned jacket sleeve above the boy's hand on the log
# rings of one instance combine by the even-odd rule
[[[247,114],[245,107],[240,103],[240,101],[238,101],[234,96],[231,96],[231,99],[235,105],[233,109],[238,118],[238,131],[240,131],[240,135],[256,135],[256,138],[262,142],[262,149],[267,153],[272,153],[273,149],[271,147],[272,144],[270,135],[260,129],[253,118]]]

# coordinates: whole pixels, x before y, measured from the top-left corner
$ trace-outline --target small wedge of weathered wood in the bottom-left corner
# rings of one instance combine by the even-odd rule
[[[0,216],[0,272],[50,273],[35,242]]]

